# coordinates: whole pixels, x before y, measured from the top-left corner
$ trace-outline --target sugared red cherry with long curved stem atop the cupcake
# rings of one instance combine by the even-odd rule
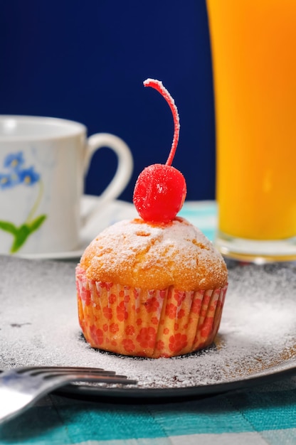
[[[179,170],[171,166],[179,141],[179,114],[174,99],[159,80],[147,79],[145,87],[153,87],[161,93],[174,118],[174,139],[165,164],[155,163],[144,168],[134,186],[134,205],[145,221],[168,223],[174,220],[186,198],[186,182]]]

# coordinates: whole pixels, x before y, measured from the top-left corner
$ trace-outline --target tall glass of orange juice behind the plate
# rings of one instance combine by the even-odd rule
[[[206,0],[216,113],[216,246],[296,259],[296,1]]]

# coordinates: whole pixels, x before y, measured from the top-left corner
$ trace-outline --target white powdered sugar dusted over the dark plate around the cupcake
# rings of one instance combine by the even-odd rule
[[[296,365],[296,265],[229,264],[215,344],[179,358],[132,358],[94,350],[78,325],[75,263],[0,257],[0,368],[81,365],[138,380],[139,390],[203,388]],[[110,388],[112,392],[112,388]]]

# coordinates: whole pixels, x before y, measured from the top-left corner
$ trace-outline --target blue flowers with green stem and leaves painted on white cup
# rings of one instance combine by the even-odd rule
[[[10,221],[0,220],[0,229],[9,232],[14,238],[10,252],[15,253],[18,252],[28,237],[38,230],[46,220],[46,215],[34,217],[43,195],[43,183],[40,174],[35,171],[33,166],[25,166],[22,151],[6,155],[3,167],[5,171],[4,173],[0,172],[0,193],[4,193],[7,188],[20,185],[26,187],[38,186],[39,188],[36,201],[23,224],[17,227]]]

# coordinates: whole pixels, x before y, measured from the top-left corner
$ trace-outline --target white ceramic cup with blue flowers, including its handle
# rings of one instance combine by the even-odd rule
[[[109,147],[118,159],[98,205],[127,186],[133,167],[127,144],[113,134],[87,138],[86,132],[83,124],[66,119],[0,116],[0,254],[79,248],[84,178],[97,149]],[[97,175],[103,172],[104,165]]]

